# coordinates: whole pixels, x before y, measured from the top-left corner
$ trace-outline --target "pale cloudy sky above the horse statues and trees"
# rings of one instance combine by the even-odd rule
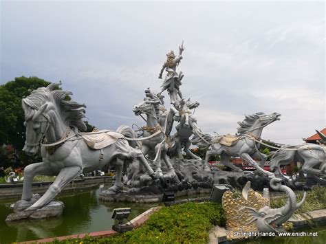
[[[143,125],[132,106],[160,91],[182,40],[181,90],[203,131],[235,133],[259,111],[281,113],[262,137],[282,144],[325,126],[323,1],[1,1],[0,84],[61,80],[98,128]]]

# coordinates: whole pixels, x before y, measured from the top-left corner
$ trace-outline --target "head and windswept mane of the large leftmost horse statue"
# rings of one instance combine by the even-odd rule
[[[67,126],[75,126],[80,131],[86,129],[82,120],[85,117],[85,104],[67,100],[67,96],[72,93],[54,90],[58,85],[61,83],[39,87],[22,100],[26,126],[23,151],[28,155],[35,155],[39,151],[45,134],[51,135],[50,139],[56,141],[61,137],[63,128]],[[61,129],[58,129],[59,127]],[[47,133],[49,128],[52,129],[51,133]]]

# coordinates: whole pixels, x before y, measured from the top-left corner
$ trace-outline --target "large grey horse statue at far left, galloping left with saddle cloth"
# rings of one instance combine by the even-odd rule
[[[126,137],[135,136],[132,129],[120,126],[118,131],[99,131],[94,133],[79,133],[86,126],[85,105],[69,101],[65,98],[71,92],[54,90],[58,83],[41,87],[32,91],[30,96],[22,101],[25,112],[26,142],[23,151],[34,155],[41,147],[42,162],[28,165],[25,170],[21,204],[30,205],[27,210],[36,210],[47,205],[72,179],[80,173],[88,173],[111,163],[117,169],[114,186],[109,188],[117,192],[122,188],[121,176],[124,161],[137,158],[147,173],[154,178],[154,172],[142,152],[129,145]],[[124,134],[124,135],[123,135]],[[45,136],[45,144],[42,143]],[[98,138],[108,137],[111,142],[96,145],[93,141],[83,140],[84,136]],[[101,140],[98,140],[101,141]],[[93,148],[89,145],[92,144]],[[54,183],[45,194],[36,199],[32,194],[32,180],[35,175],[56,175]]]

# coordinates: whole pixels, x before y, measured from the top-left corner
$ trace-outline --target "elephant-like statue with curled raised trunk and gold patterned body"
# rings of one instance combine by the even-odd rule
[[[243,239],[248,238],[248,233],[254,232],[284,232],[284,223],[292,217],[294,211],[300,208],[305,201],[306,192],[299,203],[293,190],[281,184],[281,179],[273,178],[270,181],[273,190],[285,192],[287,203],[281,208],[270,208],[268,189],[264,195],[254,192],[250,188],[250,181],[242,190],[242,196],[235,198],[228,190],[224,192],[222,206],[226,210],[228,220],[226,222],[227,238]],[[236,233],[236,234],[235,234]]]

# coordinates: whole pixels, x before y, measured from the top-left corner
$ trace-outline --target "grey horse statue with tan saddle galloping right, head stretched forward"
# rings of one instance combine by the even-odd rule
[[[260,153],[258,149],[263,128],[279,120],[280,116],[279,113],[255,113],[246,115],[243,122],[238,122],[240,125],[238,128],[238,135],[218,135],[214,137],[213,135],[204,134],[202,131],[196,130],[194,131],[195,136],[191,142],[201,148],[208,148],[204,162],[205,170],[209,170],[208,159],[210,156],[221,155],[221,164],[235,171],[242,171],[240,168],[230,163],[230,157],[241,157],[241,159],[256,168],[259,173],[268,175],[268,177],[274,177],[273,173],[263,170],[263,165],[268,157]],[[260,158],[261,166],[252,158]]]

